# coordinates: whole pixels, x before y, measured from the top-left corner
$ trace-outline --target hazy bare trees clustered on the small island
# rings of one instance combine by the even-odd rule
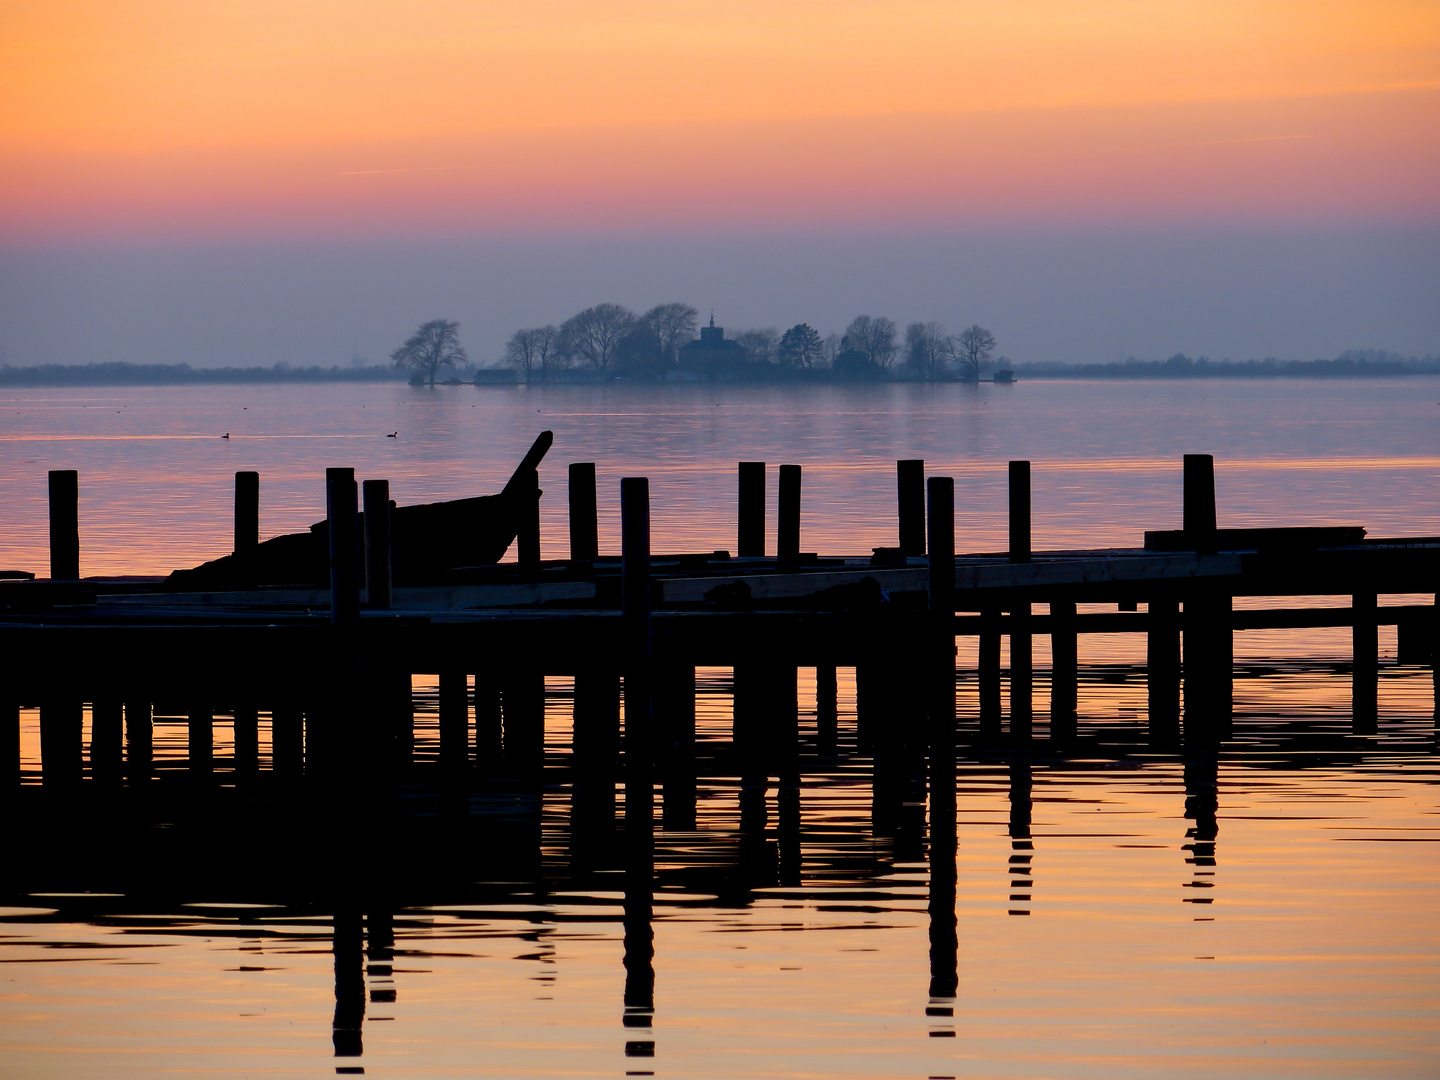
[[[596,304],[559,324],[511,334],[504,363],[526,382],[552,379],[662,380],[683,367],[697,341],[700,312],[690,304],[660,304],[636,314],[619,304]],[[834,377],[939,382],[979,379],[995,354],[995,336],[981,325],[950,334],[939,323],[912,323],[900,334],[894,320],[857,315],[842,334],[821,337],[808,323],[730,334],[724,350],[701,350],[703,374],[720,379]],[[431,320],[390,359],[435,383],[442,367],[468,363],[459,324]]]

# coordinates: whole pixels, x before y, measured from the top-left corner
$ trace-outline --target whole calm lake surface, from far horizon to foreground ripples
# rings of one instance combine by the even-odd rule
[[[269,536],[323,517],[328,465],[387,477],[402,504],[485,494],[543,428],[547,557],[566,553],[570,461],[599,464],[611,550],[622,475],[651,478],[658,549],[733,550],[739,459],[805,467],[802,547],[821,553],[894,543],[904,456],[956,478],[960,550],[1004,546],[1009,458],[1034,461],[1037,549],[1138,546],[1179,526],[1184,452],[1215,455],[1221,526],[1440,534],[1440,380],[7,390],[0,569],[46,572],[50,468],[81,474],[82,573],[163,573],[229,550],[236,469],[259,469]],[[770,526],[773,546],[773,510]],[[772,786],[766,831],[747,835],[739,782],[717,769],[696,829],[657,832],[652,1015],[625,1012],[621,863],[608,848],[577,861],[569,678],[547,680],[539,799],[474,802],[505,835],[533,824],[533,858],[490,857],[485,824],[445,848],[441,888],[419,855],[377,850],[366,877],[384,903],[338,920],[266,873],[264,845],[222,887],[186,858],[140,868],[138,852],[179,842],[171,822],[76,825],[73,858],[0,878],[0,1073],[1433,1077],[1433,683],[1381,634],[1378,736],[1351,734],[1348,631],[1246,632],[1234,739],[1192,759],[1145,744],[1143,642],[1084,638],[1081,753],[1050,756],[1041,739],[960,762],[955,942],[923,789],[877,815],[852,671],[841,753],[821,757],[802,670],[798,819]],[[962,730],[976,717],[966,648]],[[723,755],[732,687],[729,670],[700,672],[701,756]],[[426,760],[433,680],[415,688]],[[33,782],[32,708],[22,737]],[[262,717],[262,768],[268,737]],[[161,772],[183,752],[184,717],[161,711]],[[230,755],[219,716],[222,782]],[[936,994],[948,971],[953,994]]]

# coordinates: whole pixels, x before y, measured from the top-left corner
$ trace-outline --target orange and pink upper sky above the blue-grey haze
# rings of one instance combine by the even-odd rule
[[[1430,0],[0,0],[0,232],[1434,220]]]

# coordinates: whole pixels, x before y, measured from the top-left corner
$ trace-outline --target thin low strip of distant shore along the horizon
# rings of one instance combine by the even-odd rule
[[[481,369],[481,377],[475,379],[480,386],[523,386],[523,382],[490,380],[484,373],[507,369]],[[1172,357],[1171,360],[1125,360],[1107,364],[1054,364],[1054,363],[1017,363],[1011,366],[1017,382],[1040,379],[1083,379],[1083,380],[1113,380],[1113,379],[1151,379],[1151,380],[1197,380],[1197,379],[1392,379],[1408,376],[1437,376],[1440,374],[1440,357],[1400,359],[1385,356],[1384,359],[1351,359],[1341,356],[1335,360],[1244,360],[1234,363],[1230,360],[1189,360],[1188,357]],[[461,384],[471,384],[472,373],[465,373]],[[756,373],[756,379],[724,379],[716,382],[697,380],[625,380],[629,386],[750,386],[750,384],[811,384],[811,386],[877,386],[886,383],[914,383],[922,382],[904,369],[897,369],[884,379],[851,380],[824,377],[828,372],[798,373],[801,377],[778,377],[780,373]],[[190,364],[37,364],[32,367],[0,366],[0,387],[89,387],[89,386],[213,386],[213,384],[266,384],[266,383],[405,383],[410,373],[390,366],[366,367],[289,367],[276,364],[274,367],[192,367]],[[818,377],[819,376],[819,377]],[[441,380],[436,380],[439,384]],[[537,382],[537,386],[596,386],[611,382],[600,377],[585,377],[580,372],[566,372],[562,377],[550,382]],[[945,379],[942,382],[959,382]],[[989,382],[988,379],[985,382]],[[449,384],[455,384],[451,382]]]

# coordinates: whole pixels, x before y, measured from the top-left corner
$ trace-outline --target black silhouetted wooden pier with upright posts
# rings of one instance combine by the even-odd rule
[[[500,769],[540,769],[543,680],[573,675],[577,768],[595,763],[609,776],[624,711],[626,768],[662,768],[680,791],[694,744],[694,672],[717,665],[734,670],[736,753],[762,789],[796,768],[798,668],[815,668],[822,727],[834,726],[835,668],[855,668],[878,776],[894,747],[922,757],[939,747],[953,759],[956,744],[1028,746],[1035,636],[1050,638],[1053,657],[1050,716],[1038,719],[1063,752],[1076,737],[1077,639],[1086,634],[1145,635],[1152,739],[1212,747],[1230,723],[1236,631],[1349,628],[1354,724],[1374,730],[1377,628],[1398,626],[1400,662],[1434,668],[1440,539],[1371,539],[1354,526],[1218,528],[1211,458],[1188,455],[1182,468],[1182,530],[1146,533],[1133,549],[1045,550],[1031,534],[1030,462],[1011,462],[1008,550],[956,553],[952,481],[901,461],[896,547],[858,557],[801,550],[798,465],[779,468],[773,554],[765,552],[763,462],[739,465],[734,554],[652,552],[647,481],[626,478],[622,552],[608,556],[598,544],[595,467],[579,462],[569,467],[572,559],[541,559],[534,481],[516,530],[518,562],[422,585],[390,579],[386,482],[367,480],[361,500],[351,469],[330,469],[328,589],[206,592],[81,577],[78,478],[53,472],[50,577],[0,580],[7,783],[20,780],[19,708],[36,704],[52,791],[145,785],[157,703],[189,716],[189,772],[202,786],[215,778],[217,713],[233,717],[238,786],[264,779],[261,717],[271,723],[274,778],[393,778],[413,759],[412,675],[429,674],[439,677],[435,782],[462,792]],[[236,552],[258,543],[258,507],[259,477],[236,474]],[[1427,602],[1378,603],[1417,593]],[[1234,608],[1236,598],[1316,596],[1349,603]],[[960,636],[978,638],[975,670],[956,668]],[[958,685],[978,693],[973,729],[956,727]],[[685,819],[683,808],[675,814]]]

